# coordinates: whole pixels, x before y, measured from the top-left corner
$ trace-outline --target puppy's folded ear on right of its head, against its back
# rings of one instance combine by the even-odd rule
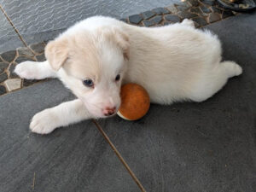
[[[119,29],[114,29],[114,38],[116,43],[123,50],[125,60],[128,61],[130,58],[130,42],[128,35]]]

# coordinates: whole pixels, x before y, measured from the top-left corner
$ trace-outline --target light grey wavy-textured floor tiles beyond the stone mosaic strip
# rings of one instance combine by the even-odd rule
[[[177,2],[179,0],[0,0],[0,5],[26,44],[32,44],[54,38],[76,21],[92,15],[121,19]],[[0,53],[24,46],[1,11],[0,24]]]

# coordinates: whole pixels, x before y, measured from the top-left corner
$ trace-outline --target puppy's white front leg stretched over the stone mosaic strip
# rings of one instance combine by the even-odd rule
[[[49,61],[25,61],[15,67],[15,73],[22,79],[57,78],[57,73],[50,67]]]

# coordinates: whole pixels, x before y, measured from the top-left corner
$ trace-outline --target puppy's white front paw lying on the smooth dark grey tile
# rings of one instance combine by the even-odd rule
[[[57,128],[58,120],[59,119],[51,109],[45,109],[33,116],[29,128],[32,132],[38,134],[48,134]]]

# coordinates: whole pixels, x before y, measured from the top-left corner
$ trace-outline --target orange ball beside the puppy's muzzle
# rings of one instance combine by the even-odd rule
[[[141,119],[150,106],[147,90],[138,84],[125,84],[121,87],[119,117],[127,120]]]

